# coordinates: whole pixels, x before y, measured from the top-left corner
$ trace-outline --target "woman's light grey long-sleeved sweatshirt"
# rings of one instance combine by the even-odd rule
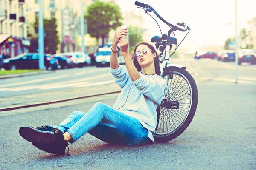
[[[115,82],[122,88],[113,109],[134,117],[148,129],[148,137],[154,141],[153,132],[157,125],[157,106],[161,104],[166,87],[166,81],[157,74],[146,75],[132,82],[127,68],[119,65],[117,69],[110,68]]]

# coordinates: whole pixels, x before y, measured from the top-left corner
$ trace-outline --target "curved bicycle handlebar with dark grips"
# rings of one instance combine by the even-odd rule
[[[154,10],[150,5],[148,5],[148,4],[141,3],[141,2],[139,2],[139,1],[135,1],[135,5],[140,6],[140,7],[142,7],[142,8],[145,8],[147,11],[153,11],[154,14],[156,14],[156,16],[157,16],[161,21],[163,21],[164,23],[166,23],[168,26],[175,27],[175,28],[177,28],[177,30],[183,31],[183,32],[184,32],[184,31],[187,31],[187,30],[190,30],[190,28],[186,25],[186,23],[177,23],[178,26],[183,26],[185,29],[180,28],[180,27],[178,27],[178,26],[174,26],[174,25],[172,25],[171,23],[168,23],[166,20],[164,20],[164,19],[157,13],[157,11],[155,11],[155,10]]]

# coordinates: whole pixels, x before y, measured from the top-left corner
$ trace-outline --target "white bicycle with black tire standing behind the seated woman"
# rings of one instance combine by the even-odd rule
[[[183,26],[184,28],[168,23],[148,4],[136,1],[135,5],[139,6],[137,8],[144,9],[147,14],[148,12],[153,12],[171,28],[168,31],[168,35],[166,35],[162,34],[161,28],[159,27],[162,37],[154,36],[151,38],[151,42],[155,43],[156,48],[161,52],[159,54],[161,77],[166,80],[167,84],[163,102],[157,108],[158,121],[153,136],[155,142],[168,142],[177,138],[186,130],[195,115],[198,104],[198,89],[191,74],[186,71],[185,66],[169,63],[169,58],[177,49],[177,39],[171,37],[171,33],[177,30],[183,32],[190,31],[191,28],[186,23],[177,23],[178,26]],[[176,45],[176,48],[170,55],[169,53],[173,45]]]

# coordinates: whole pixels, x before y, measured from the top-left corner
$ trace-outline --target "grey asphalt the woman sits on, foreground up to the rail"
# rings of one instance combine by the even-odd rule
[[[18,134],[21,126],[55,125],[72,111],[87,112],[95,102],[113,106],[118,94],[0,112],[0,169],[256,169],[256,67],[241,65],[235,84],[233,63],[191,60],[187,65],[197,81],[198,109],[176,139],[128,147],[86,134],[69,145],[71,156],[54,156]]]

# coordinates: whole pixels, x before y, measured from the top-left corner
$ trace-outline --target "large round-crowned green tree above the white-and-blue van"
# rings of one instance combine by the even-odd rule
[[[88,6],[84,18],[87,19],[87,30],[91,37],[102,37],[102,43],[104,44],[104,38],[108,36],[111,29],[116,29],[121,26],[122,16],[120,8],[113,2],[102,2],[96,0],[90,6]]]

